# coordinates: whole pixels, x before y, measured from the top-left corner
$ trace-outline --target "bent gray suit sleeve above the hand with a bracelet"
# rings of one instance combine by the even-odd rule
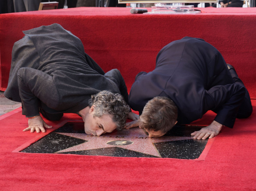
[[[19,94],[22,102],[22,115],[39,115],[41,102],[54,108],[59,104],[59,94],[53,77],[33,68],[20,68],[18,71]]]

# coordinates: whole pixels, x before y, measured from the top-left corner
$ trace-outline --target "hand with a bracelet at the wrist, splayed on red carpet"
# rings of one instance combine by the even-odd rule
[[[29,123],[29,127],[24,129],[23,131],[30,130],[31,133],[33,133],[34,131],[36,131],[36,133],[40,133],[40,130],[41,130],[43,133],[45,133],[44,127],[47,129],[50,129],[53,127],[53,126],[47,125],[41,116],[35,117],[33,119],[29,119],[28,123]]]

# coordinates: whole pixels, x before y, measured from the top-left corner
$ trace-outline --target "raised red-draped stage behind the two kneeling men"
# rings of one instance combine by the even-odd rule
[[[236,68],[255,98],[256,8],[200,9],[202,13],[195,15],[131,14],[130,8],[95,7],[0,14],[0,90],[7,87],[12,46],[23,37],[22,31],[58,23],[82,40],[85,52],[105,72],[119,69],[128,89],[136,74],[154,69],[164,45],[184,36],[203,38]]]

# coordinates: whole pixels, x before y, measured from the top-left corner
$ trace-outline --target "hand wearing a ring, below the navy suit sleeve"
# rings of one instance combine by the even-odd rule
[[[217,136],[221,129],[222,129],[223,125],[218,123],[217,121],[213,121],[210,125],[208,125],[207,127],[204,127],[202,129],[200,129],[199,131],[195,131],[193,133],[191,133],[191,136],[194,136],[194,139],[206,139],[206,138],[214,138],[215,136]]]

